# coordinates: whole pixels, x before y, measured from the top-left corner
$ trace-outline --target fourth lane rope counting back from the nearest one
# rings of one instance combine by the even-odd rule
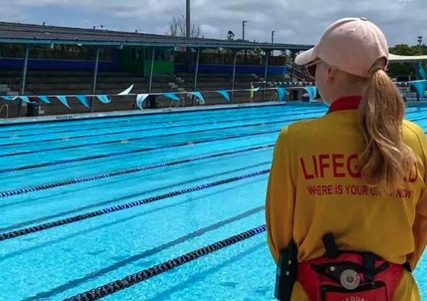
[[[79,157],[79,158],[75,158],[75,159],[63,159],[63,160],[58,160],[58,161],[53,161],[53,162],[23,165],[21,167],[8,167],[5,169],[0,169],[0,174],[6,174],[6,173],[15,172],[15,171],[23,171],[23,170],[27,170],[27,169],[37,169],[37,168],[41,168],[41,167],[50,167],[50,166],[55,166],[55,165],[70,164],[70,163],[75,163],[75,162],[84,162],[84,161],[90,161],[90,160],[102,159],[102,158],[108,158],[108,157],[123,156],[123,155],[127,155],[127,154],[138,154],[140,152],[151,152],[154,150],[169,149],[169,148],[175,148],[175,147],[185,147],[185,146],[194,145],[194,144],[204,144],[204,143],[216,142],[216,141],[221,141],[221,140],[236,139],[236,138],[243,138],[243,137],[249,137],[249,136],[251,136],[251,137],[252,136],[260,136],[263,134],[272,134],[272,133],[278,133],[278,132],[280,132],[280,130],[270,130],[270,131],[253,132],[253,133],[246,133],[246,134],[234,134],[234,135],[230,135],[230,136],[226,136],[226,137],[200,139],[200,140],[192,141],[191,142],[192,144],[190,144],[190,142],[178,142],[178,143],[174,143],[174,144],[162,145],[159,147],[144,147],[141,149],[133,149],[130,151],[110,152],[107,154],[95,154],[92,156]]]

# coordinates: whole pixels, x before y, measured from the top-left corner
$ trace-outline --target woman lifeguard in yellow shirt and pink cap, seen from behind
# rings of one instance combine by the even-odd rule
[[[280,300],[420,300],[427,142],[404,120],[388,56],[374,23],[346,18],[296,58],[330,107],[275,144],[265,211]]]

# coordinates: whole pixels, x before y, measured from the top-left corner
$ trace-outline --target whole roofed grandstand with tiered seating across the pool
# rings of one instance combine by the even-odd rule
[[[186,47],[192,50],[191,58],[182,51]],[[270,53],[282,51],[295,56],[311,47],[0,23],[0,93],[102,95],[120,93],[130,85],[134,85],[135,93],[203,92],[247,89],[252,82],[265,82],[265,76],[272,82],[309,81],[312,79],[303,71],[288,65],[286,55]],[[257,93],[255,101],[268,100],[272,95],[271,91]],[[231,97],[232,102],[248,102],[249,93],[236,92]],[[36,113],[88,112],[77,99],[69,102],[72,110],[58,100],[51,102]],[[220,95],[212,94],[206,103],[225,102]],[[169,105],[170,100],[165,97],[152,102],[152,107]],[[23,115],[25,110],[21,110],[20,101],[16,110],[13,106],[11,117]],[[115,97],[107,105],[94,102],[90,111],[132,109],[135,97]]]

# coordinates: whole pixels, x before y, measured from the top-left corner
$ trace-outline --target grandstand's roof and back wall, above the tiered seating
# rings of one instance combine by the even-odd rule
[[[93,62],[99,51],[99,71],[148,74],[154,56],[154,74],[176,73],[182,72],[186,65],[186,53],[182,51],[186,46],[194,49],[193,63],[196,61],[196,50],[201,49],[199,73],[232,73],[233,51],[240,51],[236,73],[258,74],[264,71],[264,51],[295,53],[311,47],[0,23],[1,70],[21,69],[28,49],[28,70],[93,70]],[[246,54],[243,50],[246,50]],[[286,56],[270,57],[269,72],[283,73],[286,64]]]

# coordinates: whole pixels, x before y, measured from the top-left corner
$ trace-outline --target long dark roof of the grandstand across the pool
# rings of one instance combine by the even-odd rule
[[[255,43],[227,41],[212,38],[181,38],[147,33],[107,31],[92,28],[43,26],[23,23],[0,22],[0,43],[28,44],[82,44],[90,46],[155,46],[194,48],[237,48],[265,50],[304,51],[312,45]]]

